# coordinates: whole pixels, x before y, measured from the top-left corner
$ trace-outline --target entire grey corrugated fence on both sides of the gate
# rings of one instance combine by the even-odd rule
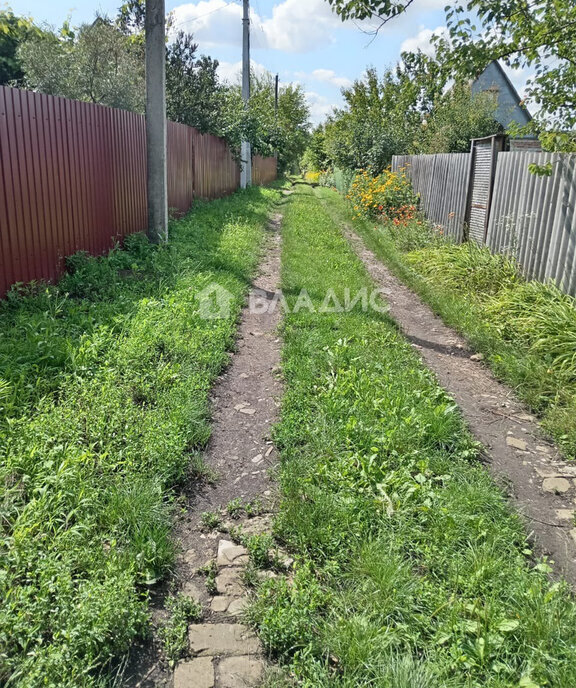
[[[536,151],[495,155],[484,209],[486,231],[471,234],[471,238],[492,251],[515,257],[527,277],[551,279],[562,291],[576,296],[576,155]],[[425,213],[435,224],[446,227],[456,241],[467,233],[463,209],[477,197],[475,185],[485,183],[482,175],[466,183],[469,157],[469,153],[395,156],[392,163],[393,169],[406,169]],[[441,180],[435,179],[437,168],[432,158],[450,159],[449,172]],[[528,169],[530,163],[548,162],[552,163],[549,177]],[[494,161],[489,164],[493,166]],[[458,210],[450,217],[452,206]]]

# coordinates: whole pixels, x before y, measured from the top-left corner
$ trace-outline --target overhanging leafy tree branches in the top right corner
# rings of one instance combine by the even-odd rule
[[[380,26],[413,0],[328,0],[342,19]],[[448,38],[437,38],[443,70],[461,80],[494,59],[533,70],[527,99],[537,108],[532,130],[550,149],[576,149],[576,3],[574,0],[448,0]]]

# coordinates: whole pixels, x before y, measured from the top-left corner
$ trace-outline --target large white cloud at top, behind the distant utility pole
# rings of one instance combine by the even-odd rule
[[[173,31],[194,34],[200,46],[240,45],[242,8],[225,0],[200,0],[172,11]],[[333,42],[333,31],[342,25],[326,0],[283,0],[272,16],[251,12],[254,48],[302,53]]]

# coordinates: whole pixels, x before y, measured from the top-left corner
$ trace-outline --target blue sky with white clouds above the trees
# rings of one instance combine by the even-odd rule
[[[12,0],[17,14],[59,26],[94,18],[96,12],[114,15],[121,0]],[[414,0],[376,37],[369,27],[342,22],[327,0],[251,0],[251,58],[253,68],[279,74],[280,81],[300,83],[313,123],[322,121],[342,104],[340,90],[362,76],[367,67],[379,71],[394,65],[402,50],[430,50],[433,32],[442,31],[446,0]],[[175,29],[194,34],[199,54],[220,61],[223,78],[236,81],[242,51],[241,0],[166,0]],[[525,75],[509,71],[523,90]]]

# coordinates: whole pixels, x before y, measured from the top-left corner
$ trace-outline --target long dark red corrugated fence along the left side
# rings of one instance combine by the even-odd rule
[[[235,191],[225,141],[168,122],[168,204]],[[255,161],[255,183],[276,159]],[[124,110],[0,86],[0,296],[15,282],[55,280],[76,251],[101,254],[146,229],[145,119]]]

